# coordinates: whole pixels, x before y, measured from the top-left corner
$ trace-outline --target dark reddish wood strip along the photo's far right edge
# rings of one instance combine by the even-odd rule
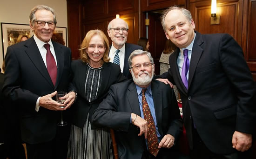
[[[256,0],[249,0],[246,61],[256,81]]]

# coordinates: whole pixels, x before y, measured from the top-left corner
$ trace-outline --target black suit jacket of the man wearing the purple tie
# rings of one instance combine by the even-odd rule
[[[242,48],[229,34],[196,32],[188,90],[176,62],[179,52],[177,49],[170,55],[170,69],[160,77],[174,82],[179,90],[190,148],[192,116],[209,150],[218,154],[235,152],[231,143],[233,133],[253,134],[256,117],[256,86]]]

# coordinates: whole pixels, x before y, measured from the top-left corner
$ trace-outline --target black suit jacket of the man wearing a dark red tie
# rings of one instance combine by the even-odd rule
[[[29,144],[52,140],[60,120],[59,111],[44,107],[40,107],[38,112],[35,111],[38,97],[54,91],[67,92],[71,80],[70,49],[54,41],[52,43],[58,67],[55,86],[33,37],[7,48],[3,93],[19,103],[16,109],[20,112],[21,136]]]

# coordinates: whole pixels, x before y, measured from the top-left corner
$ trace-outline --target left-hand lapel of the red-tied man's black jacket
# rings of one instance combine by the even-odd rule
[[[27,47],[27,49],[25,49],[25,52],[27,53],[30,60],[34,63],[34,66],[38,69],[38,71],[42,74],[42,76],[47,80],[49,85],[54,88],[53,82],[47,71],[47,68],[42,59],[40,51],[35,43],[34,37],[31,37],[30,39],[28,39],[24,45]]]

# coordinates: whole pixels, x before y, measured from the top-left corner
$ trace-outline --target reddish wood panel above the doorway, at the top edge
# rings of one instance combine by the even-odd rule
[[[174,5],[185,6],[186,0],[141,0],[141,11],[153,11]]]

